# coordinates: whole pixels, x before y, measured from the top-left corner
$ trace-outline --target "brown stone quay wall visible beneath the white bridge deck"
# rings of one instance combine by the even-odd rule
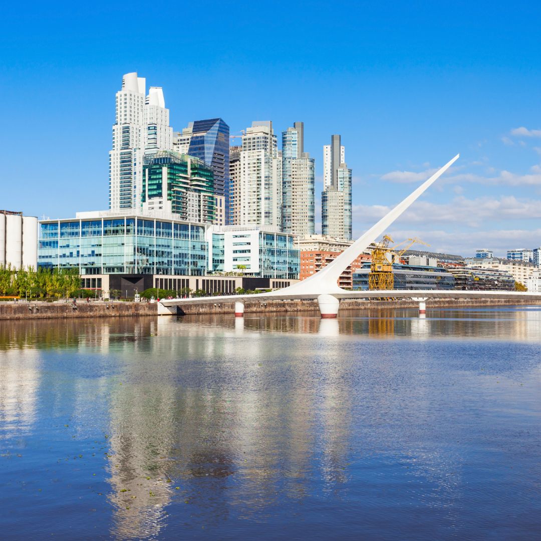
[[[514,306],[541,304],[541,301],[520,301],[509,299],[428,299],[427,309],[444,307],[469,307],[469,306]],[[378,308],[418,308],[419,303],[412,300],[377,301],[344,299],[340,301],[340,313],[348,310],[373,310]],[[179,315],[189,314],[232,314],[235,311],[233,302],[220,302],[216,297],[214,304],[184,305],[178,308]],[[245,302],[244,312],[247,313],[270,313],[270,312],[311,312],[318,311],[318,302],[313,301],[259,301]],[[340,314],[339,314],[340,315]]]

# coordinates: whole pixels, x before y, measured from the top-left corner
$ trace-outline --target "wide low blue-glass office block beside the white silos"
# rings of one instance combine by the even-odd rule
[[[39,223],[38,266],[91,274],[206,274],[206,229],[143,216]]]

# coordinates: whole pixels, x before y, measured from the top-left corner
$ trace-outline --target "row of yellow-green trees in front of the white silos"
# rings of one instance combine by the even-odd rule
[[[78,269],[14,269],[0,265],[0,295],[27,298],[78,296],[81,279]],[[93,292],[94,295],[94,292]]]

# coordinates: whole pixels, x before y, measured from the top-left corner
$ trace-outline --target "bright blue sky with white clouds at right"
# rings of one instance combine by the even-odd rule
[[[163,87],[175,130],[304,121],[316,199],[322,146],[341,134],[355,235],[460,153],[395,240],[464,255],[538,247],[540,23],[539,4],[520,1],[10,3],[0,207],[106,208],[115,92],[137,71]]]

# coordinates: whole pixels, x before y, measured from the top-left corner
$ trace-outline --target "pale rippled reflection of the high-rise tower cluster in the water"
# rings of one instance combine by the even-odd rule
[[[162,318],[154,337],[133,344],[111,397],[114,537],[157,535],[179,499],[217,524],[232,509],[251,517],[283,497],[304,499],[315,475],[329,489],[345,482],[351,389],[338,352],[314,365],[300,345],[293,362],[280,361],[269,357],[280,337],[269,344],[261,329],[292,332],[292,321],[248,317],[239,331],[238,319]]]

